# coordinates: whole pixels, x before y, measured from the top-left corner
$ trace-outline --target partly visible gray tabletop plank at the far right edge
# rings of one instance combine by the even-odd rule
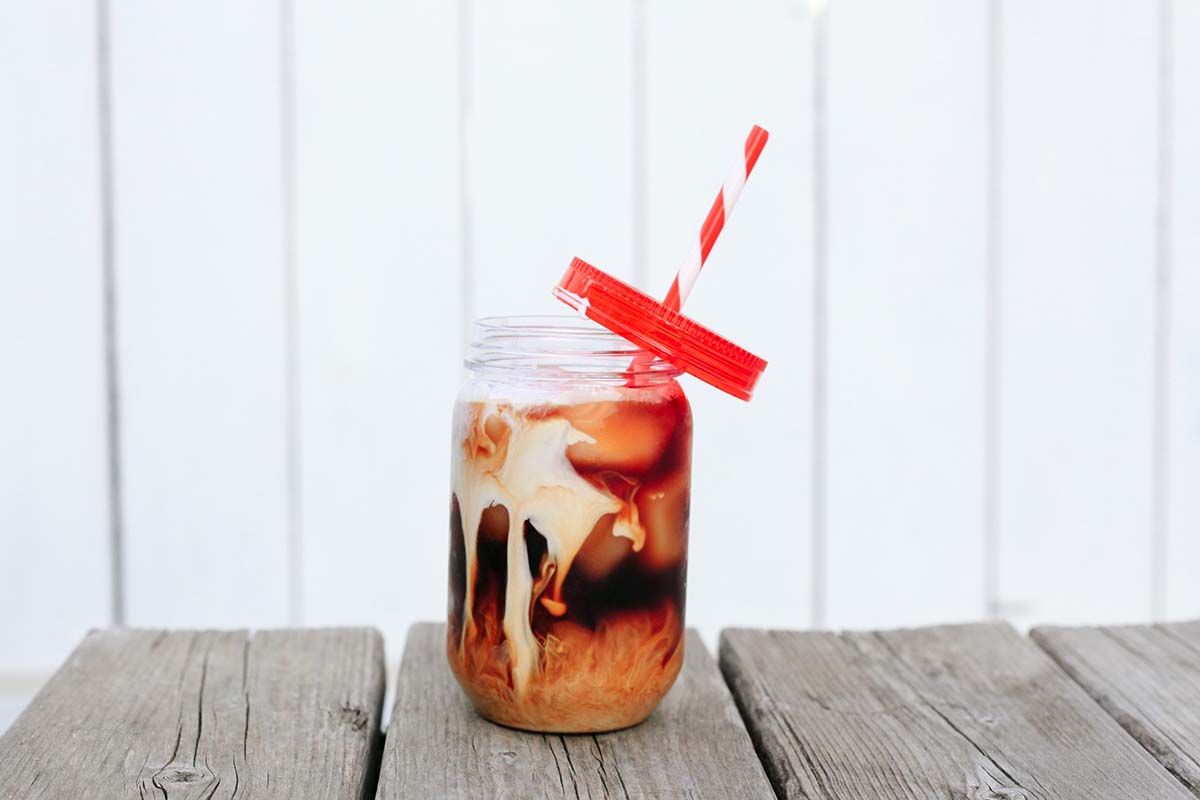
[[[1200,621],[1042,627],[1030,636],[1200,796]]]

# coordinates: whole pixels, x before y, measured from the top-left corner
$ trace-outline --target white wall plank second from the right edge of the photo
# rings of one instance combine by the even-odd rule
[[[1157,4],[1004,4],[1000,610],[1151,597]]]

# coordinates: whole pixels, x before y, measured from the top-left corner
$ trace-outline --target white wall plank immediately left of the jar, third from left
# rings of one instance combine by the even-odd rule
[[[306,624],[445,614],[460,351],[458,20],[295,6]],[[370,558],[364,558],[370,553]]]

